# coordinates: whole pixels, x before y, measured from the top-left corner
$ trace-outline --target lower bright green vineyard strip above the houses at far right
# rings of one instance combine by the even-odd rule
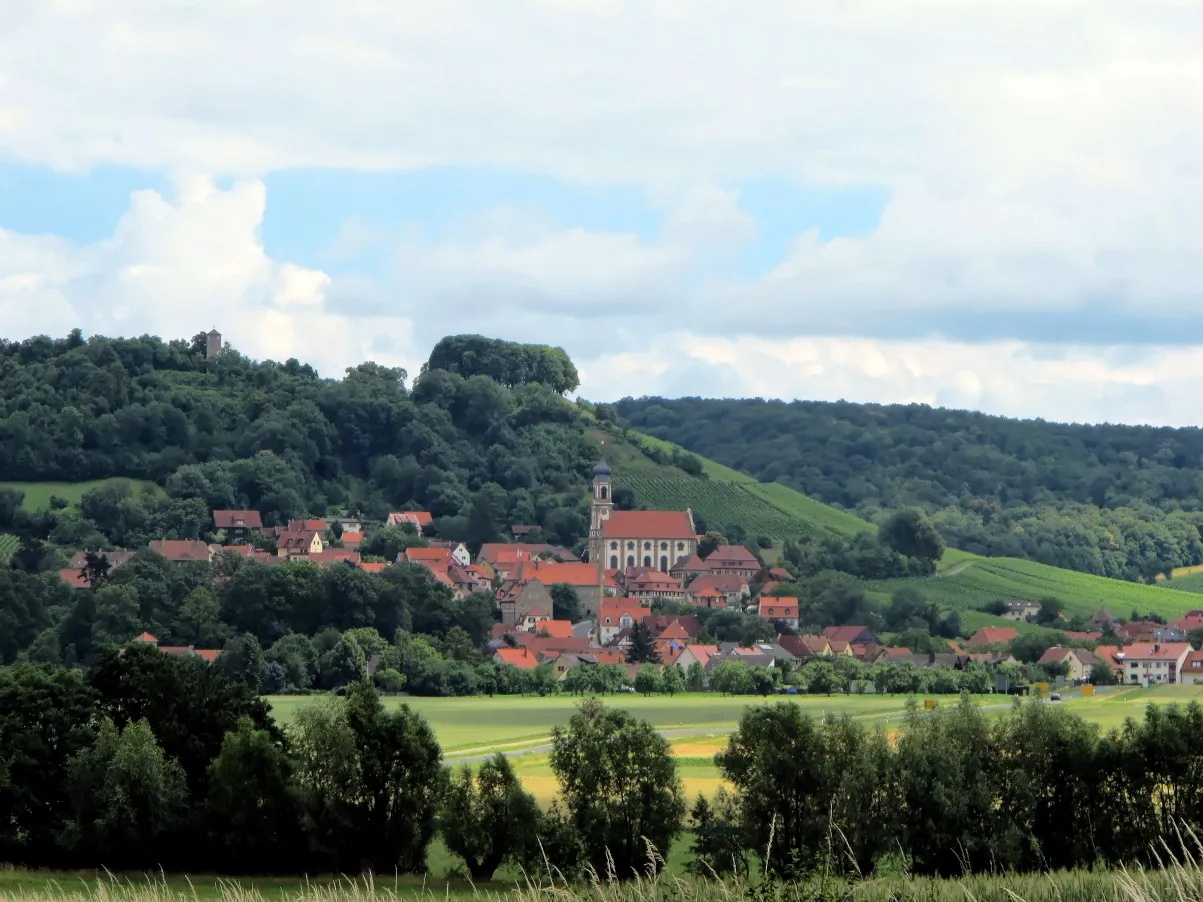
[[[867,583],[872,595],[889,599],[896,589],[912,586],[936,604],[958,611],[979,611],[990,601],[1038,601],[1059,598],[1067,615],[1092,615],[1107,607],[1116,617],[1132,610],[1156,611],[1166,618],[1181,617],[1198,603],[1185,592],[1174,593],[1161,586],[1108,580],[1104,576],[1060,570],[1017,558],[980,558],[949,551],[942,571],[936,576],[909,580],[881,580]],[[1191,580],[1195,577],[1184,577]],[[1177,582],[1177,580],[1174,581]],[[994,623],[996,618],[977,613],[967,625]]]

